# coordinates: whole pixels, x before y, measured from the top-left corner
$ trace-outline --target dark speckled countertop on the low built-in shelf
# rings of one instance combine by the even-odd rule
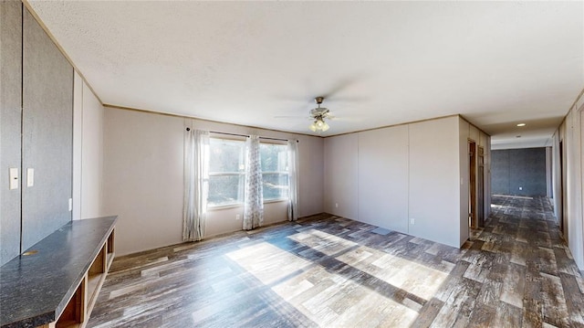
[[[71,221],[0,267],[0,326],[36,327],[63,312],[118,217]]]

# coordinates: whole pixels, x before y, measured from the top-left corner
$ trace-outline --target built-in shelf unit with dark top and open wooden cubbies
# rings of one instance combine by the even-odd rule
[[[0,267],[1,327],[85,327],[114,258],[116,220],[70,222]]]

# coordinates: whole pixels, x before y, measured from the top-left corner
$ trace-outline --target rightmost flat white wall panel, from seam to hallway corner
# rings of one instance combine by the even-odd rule
[[[410,124],[410,234],[454,247],[461,246],[458,120]]]

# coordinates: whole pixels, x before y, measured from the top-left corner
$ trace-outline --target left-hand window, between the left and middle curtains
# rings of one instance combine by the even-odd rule
[[[207,206],[243,204],[245,142],[210,138]]]

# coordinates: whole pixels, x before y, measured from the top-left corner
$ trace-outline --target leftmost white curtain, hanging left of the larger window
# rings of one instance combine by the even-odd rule
[[[184,134],[184,241],[203,239],[208,193],[209,132],[187,129]]]

